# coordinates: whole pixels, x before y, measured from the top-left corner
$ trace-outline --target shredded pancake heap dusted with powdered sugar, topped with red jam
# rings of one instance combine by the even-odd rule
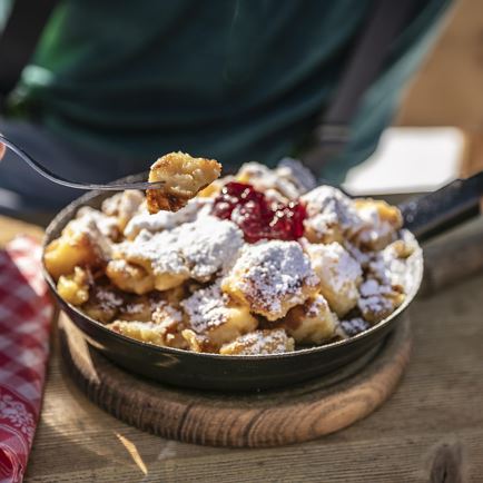
[[[417,244],[396,207],[293,159],[220,169],[171,152],[160,189],[80,208],[45,250],[59,295],[121,336],[226,356],[353,337],[403,304]]]

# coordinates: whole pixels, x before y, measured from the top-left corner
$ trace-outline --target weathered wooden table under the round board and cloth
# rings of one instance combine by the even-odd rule
[[[19,228],[0,218],[0,243]],[[181,444],[118,422],[72,384],[53,337],[26,481],[483,481],[482,295],[480,274],[415,304],[412,359],[381,410],[315,442],[268,450]]]

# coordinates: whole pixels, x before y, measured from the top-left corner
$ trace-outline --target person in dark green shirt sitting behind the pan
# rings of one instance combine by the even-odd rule
[[[365,92],[339,183],[373,152],[448,0],[421,0]],[[53,172],[108,181],[183,150],[236,167],[300,156],[367,16],[369,0],[61,0],[10,93],[0,131]],[[57,210],[79,191],[8,151],[0,207]]]

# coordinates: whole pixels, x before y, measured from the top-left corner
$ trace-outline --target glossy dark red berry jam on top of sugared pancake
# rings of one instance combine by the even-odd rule
[[[215,198],[213,214],[236,223],[248,243],[260,239],[295,240],[304,234],[306,211],[296,201],[270,201],[252,185],[228,183]]]

